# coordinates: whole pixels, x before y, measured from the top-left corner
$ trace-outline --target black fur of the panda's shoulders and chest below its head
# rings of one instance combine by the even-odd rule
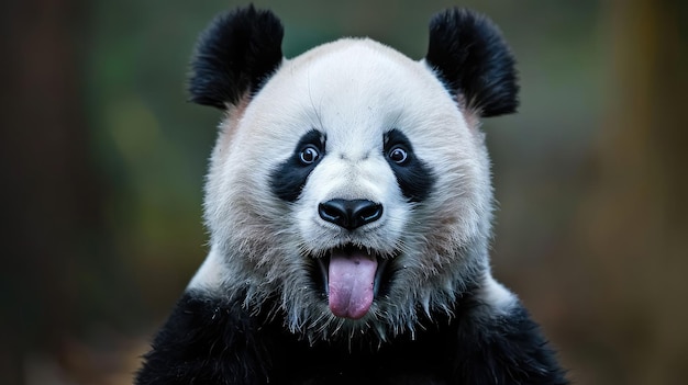
[[[453,318],[425,319],[415,339],[402,335],[379,347],[365,336],[309,344],[286,331],[280,317],[252,316],[240,304],[186,293],[135,384],[567,383],[522,307],[489,316],[469,293]]]

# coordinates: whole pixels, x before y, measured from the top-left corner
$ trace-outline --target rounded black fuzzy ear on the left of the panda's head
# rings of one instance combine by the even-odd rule
[[[253,5],[218,15],[191,60],[190,100],[221,110],[255,93],[282,61],[281,22]]]

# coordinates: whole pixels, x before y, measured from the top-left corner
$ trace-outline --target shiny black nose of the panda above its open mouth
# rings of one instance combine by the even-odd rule
[[[324,220],[353,230],[382,216],[382,205],[367,200],[330,200],[318,206]]]

